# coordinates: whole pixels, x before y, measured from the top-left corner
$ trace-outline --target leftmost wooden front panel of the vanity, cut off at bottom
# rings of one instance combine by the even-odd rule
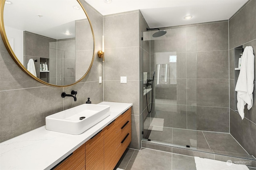
[[[85,167],[85,144],[76,149],[66,160],[60,163],[54,170],[81,170]]]

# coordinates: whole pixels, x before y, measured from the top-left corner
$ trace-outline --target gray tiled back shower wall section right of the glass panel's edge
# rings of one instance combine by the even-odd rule
[[[228,21],[197,25],[197,130],[230,131],[228,64]]]

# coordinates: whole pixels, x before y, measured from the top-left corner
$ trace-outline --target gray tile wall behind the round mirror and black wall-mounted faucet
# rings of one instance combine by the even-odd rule
[[[94,29],[96,52],[102,49],[103,17],[82,1]],[[96,54],[95,54],[96,56]],[[30,78],[10,57],[0,40],[0,142],[45,125],[45,117],[63,109],[84,104],[90,97],[93,104],[103,101],[103,64],[94,58],[87,76],[70,87],[46,86]],[[61,93],[76,90],[77,101],[61,98]]]

